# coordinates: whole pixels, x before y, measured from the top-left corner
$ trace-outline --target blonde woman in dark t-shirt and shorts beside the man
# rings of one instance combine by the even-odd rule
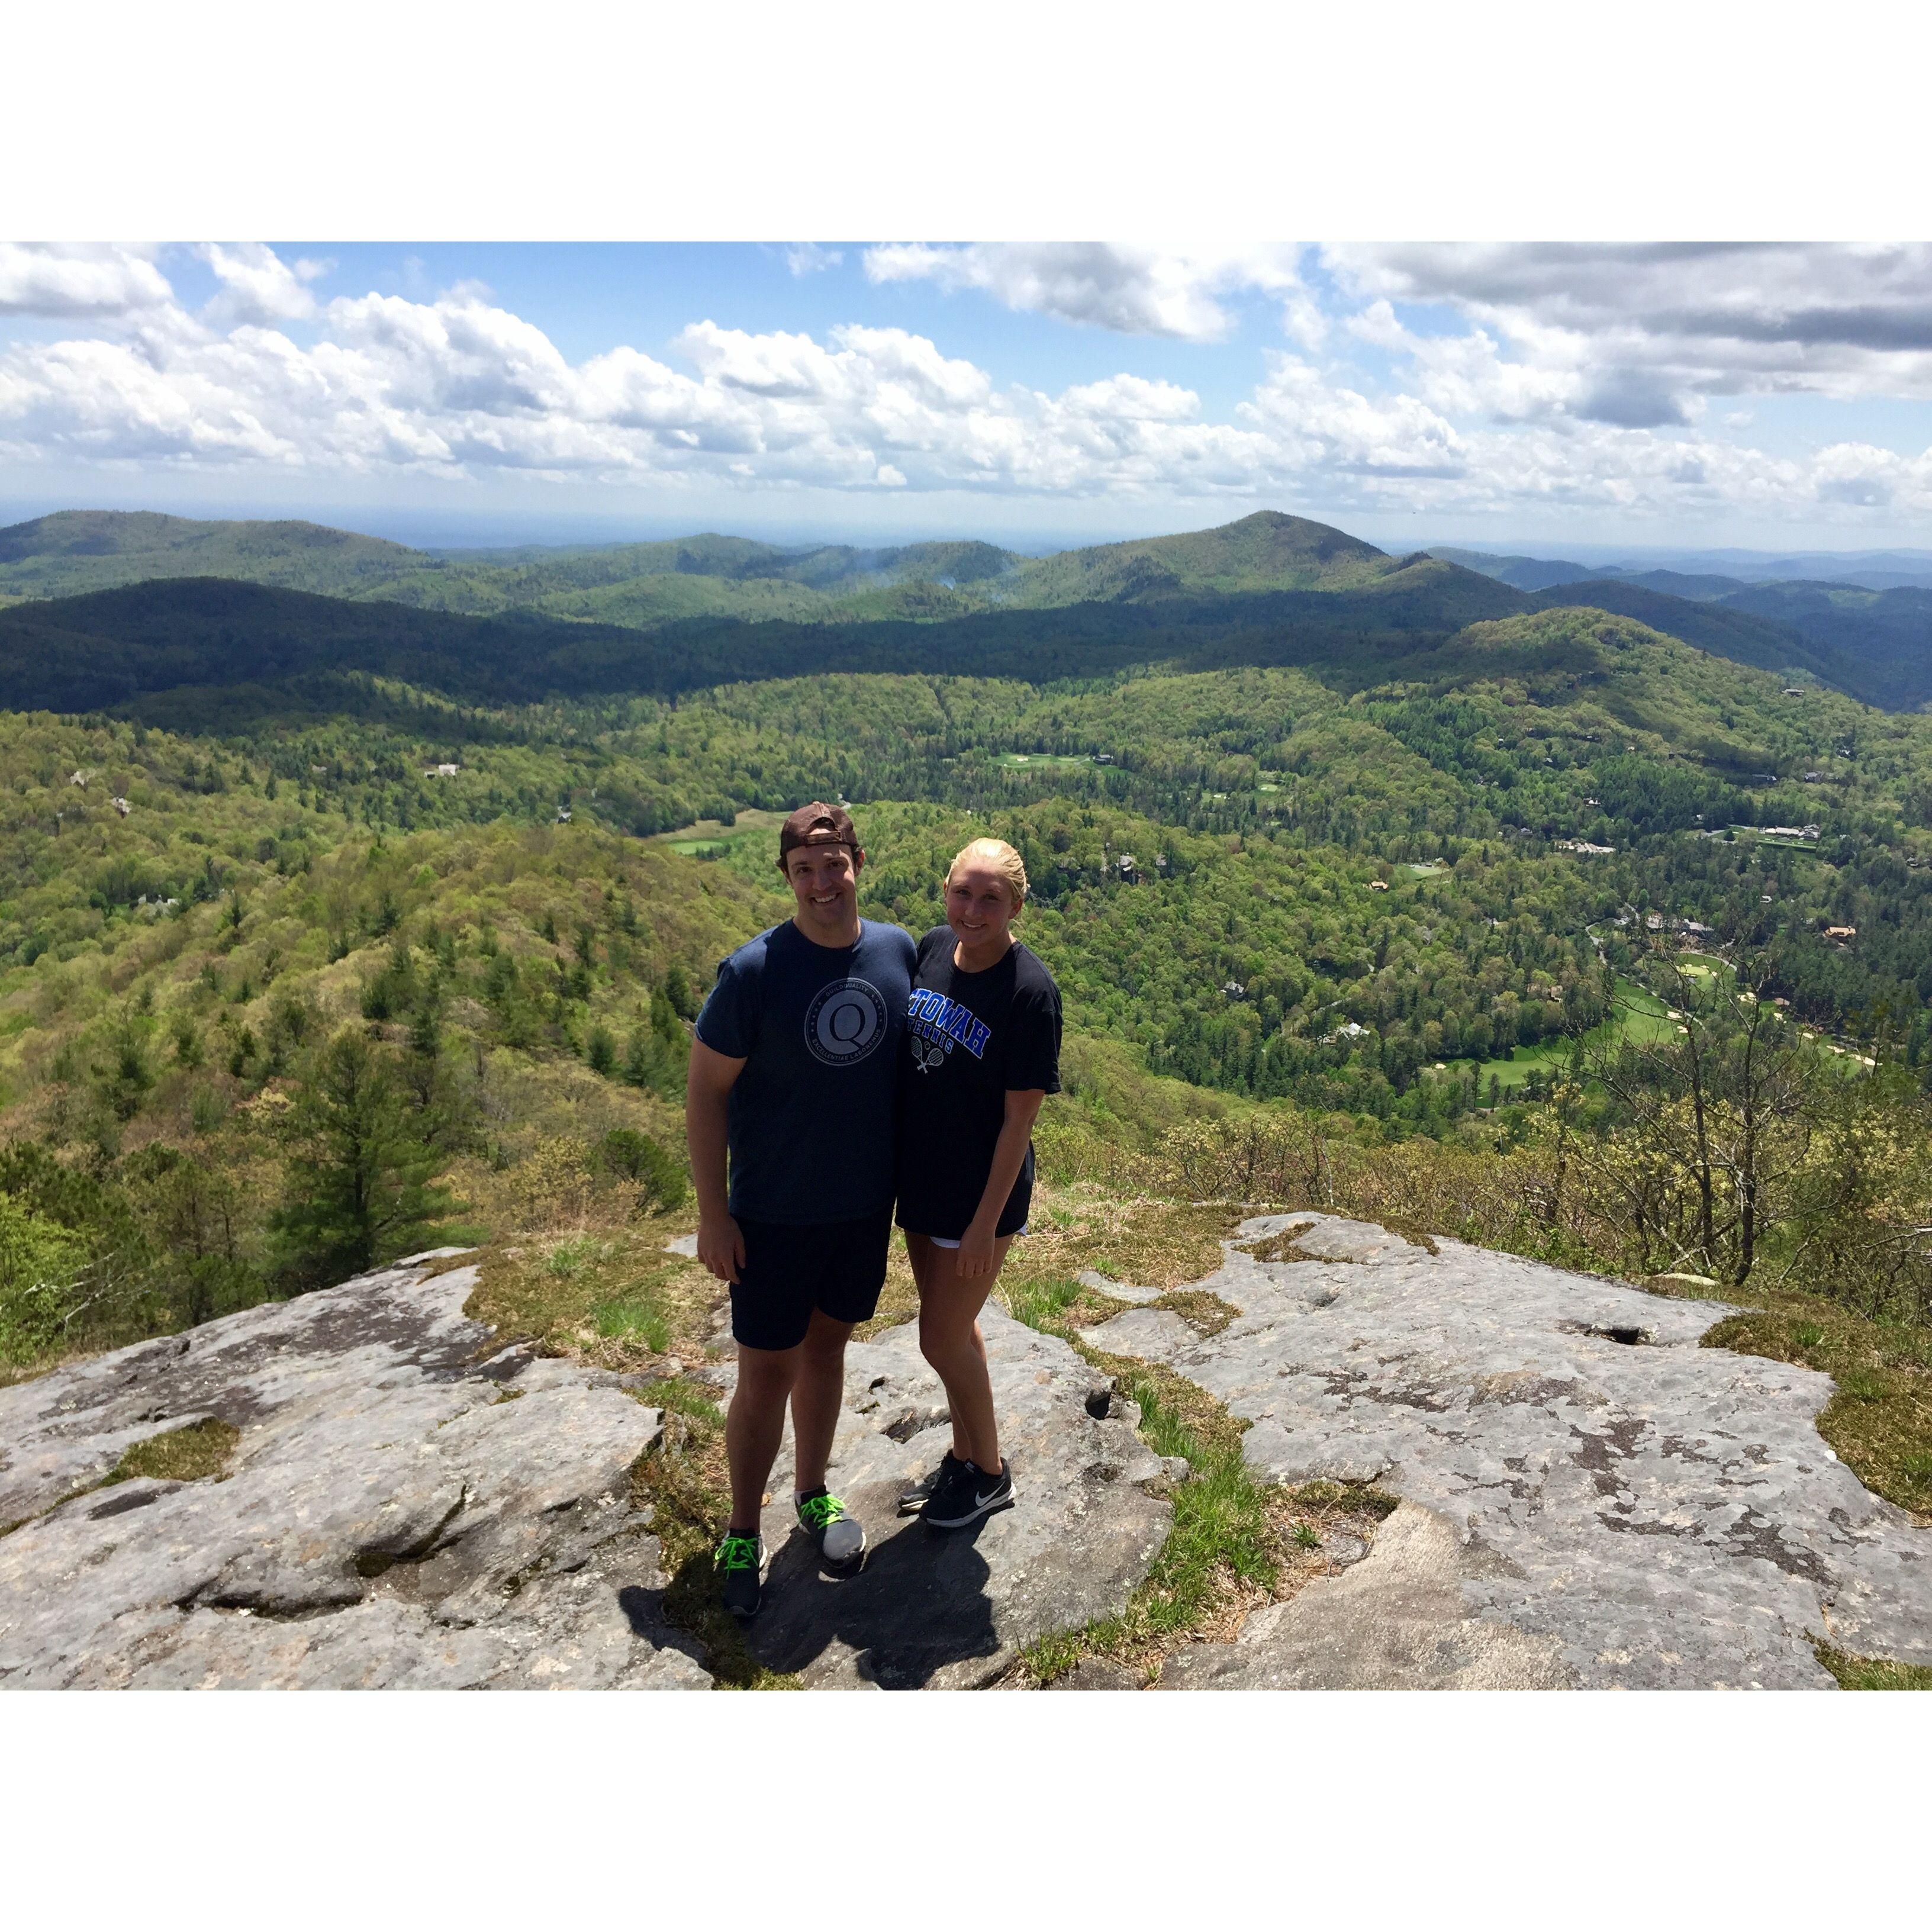
[[[952,1447],[900,1499],[941,1530],[1012,1507],[980,1310],[1034,1192],[1034,1121],[1061,1090],[1061,995],[1012,937],[1026,866],[974,838],[947,873],[947,923],[922,941],[906,1014],[898,1225],[920,1285],[920,1350],[947,1385]]]

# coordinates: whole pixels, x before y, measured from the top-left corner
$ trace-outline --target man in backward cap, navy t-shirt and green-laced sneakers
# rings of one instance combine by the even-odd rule
[[[692,1041],[684,1128],[697,1188],[697,1260],[730,1283],[738,1389],[724,1418],[730,1526],[724,1605],[757,1611],[759,1507],[792,1405],[800,1528],[835,1569],[866,1532],[825,1486],[844,1347],[871,1318],[893,1235],[898,1045],[912,935],[862,922],[866,852],[838,806],[800,806],[779,831],[794,912],[719,966]],[[730,1186],[726,1190],[726,1148]]]

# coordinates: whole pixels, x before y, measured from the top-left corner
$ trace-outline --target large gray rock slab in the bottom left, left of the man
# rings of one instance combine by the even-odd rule
[[[0,1391],[0,1687],[705,1687],[618,1378],[491,1352],[415,1258]],[[216,1416],[222,1480],[91,1488]]]

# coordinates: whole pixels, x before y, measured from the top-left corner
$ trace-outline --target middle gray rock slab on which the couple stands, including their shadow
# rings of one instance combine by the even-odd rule
[[[997,1306],[980,1321],[1018,1503],[966,1530],[900,1517],[904,1488],[952,1439],[945,1389],[916,1323],[854,1343],[831,1482],[871,1549],[856,1577],[821,1575],[794,1524],[786,1445],[763,1524],[765,1607],[748,1633],[771,1669],[813,1687],[987,1685],[1034,1638],[1121,1609],[1146,1577],[1173,1507],[1146,1488],[1163,1466],[1134,1434],[1132,1405],[1066,1343]]]

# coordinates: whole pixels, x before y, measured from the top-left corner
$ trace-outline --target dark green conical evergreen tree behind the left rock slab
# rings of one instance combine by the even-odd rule
[[[444,1155],[394,1055],[344,1028],[305,1070],[288,1115],[288,1202],[276,1215],[290,1267],[336,1281],[435,1240],[452,1208]]]

